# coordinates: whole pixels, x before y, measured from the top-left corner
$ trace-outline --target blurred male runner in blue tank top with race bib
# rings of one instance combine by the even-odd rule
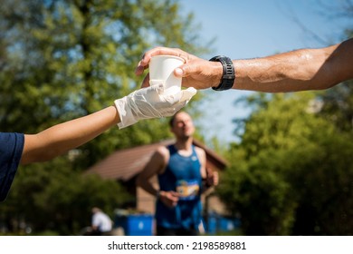
[[[193,145],[194,123],[186,112],[176,112],[170,120],[176,142],[159,146],[138,175],[137,184],[157,197],[158,236],[195,236],[202,219],[201,192],[218,184],[218,174],[207,178],[205,151]],[[150,179],[157,175],[159,189]]]

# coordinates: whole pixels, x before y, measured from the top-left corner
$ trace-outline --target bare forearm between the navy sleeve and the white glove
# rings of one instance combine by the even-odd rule
[[[57,124],[37,134],[25,134],[21,164],[51,160],[65,151],[91,141],[118,122],[119,112],[114,106],[110,106],[99,112]]]

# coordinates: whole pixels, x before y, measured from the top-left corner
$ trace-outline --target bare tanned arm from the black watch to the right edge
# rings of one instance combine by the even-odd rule
[[[234,89],[295,92],[327,89],[352,78],[353,40],[321,49],[235,60]]]

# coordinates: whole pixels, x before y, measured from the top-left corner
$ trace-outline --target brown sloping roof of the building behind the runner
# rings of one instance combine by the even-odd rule
[[[94,164],[86,173],[97,173],[104,179],[129,181],[143,170],[158,146],[167,146],[174,142],[175,140],[172,139],[115,151],[106,159]],[[207,160],[206,167],[212,170],[224,169],[226,161],[217,155],[215,151],[208,149],[202,142],[198,142],[195,139],[193,143],[205,150]]]

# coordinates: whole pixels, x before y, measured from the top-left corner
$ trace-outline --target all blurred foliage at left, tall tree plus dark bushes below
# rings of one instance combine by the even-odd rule
[[[206,53],[211,42],[200,43],[197,28],[173,0],[2,1],[0,130],[40,132],[111,105],[139,88],[142,77],[134,70],[148,48]],[[81,146],[73,160],[20,168],[0,220],[62,234],[77,230],[92,204],[109,211],[126,194],[110,181],[82,178],[81,171],[112,151],[169,137],[166,126],[160,119],[112,128]]]

